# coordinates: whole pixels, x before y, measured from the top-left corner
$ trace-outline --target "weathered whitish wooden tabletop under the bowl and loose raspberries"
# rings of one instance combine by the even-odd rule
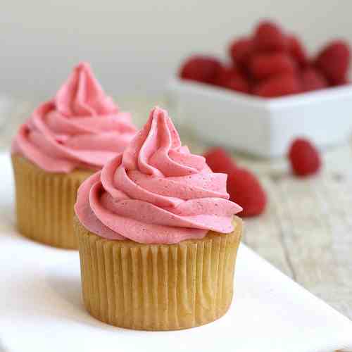
[[[121,106],[132,111],[141,126],[153,106],[150,101],[124,99]],[[32,108],[33,103],[15,104],[0,127],[0,149],[8,148]],[[186,127],[180,134],[191,151],[206,149]],[[239,165],[256,172],[268,192],[265,214],[245,219],[246,244],[352,319],[352,142],[325,151],[320,175],[303,180],[291,175],[284,158],[233,155]]]

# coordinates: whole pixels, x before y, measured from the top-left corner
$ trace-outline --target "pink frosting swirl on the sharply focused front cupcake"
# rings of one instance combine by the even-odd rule
[[[154,108],[127,149],[83,182],[75,213],[101,237],[143,244],[230,233],[241,207],[228,200],[226,179],[182,146],[168,113]]]

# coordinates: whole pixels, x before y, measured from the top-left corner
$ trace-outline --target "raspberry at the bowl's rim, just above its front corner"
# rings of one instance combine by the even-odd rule
[[[280,75],[260,82],[253,89],[253,94],[272,98],[301,92],[301,84],[294,75]]]

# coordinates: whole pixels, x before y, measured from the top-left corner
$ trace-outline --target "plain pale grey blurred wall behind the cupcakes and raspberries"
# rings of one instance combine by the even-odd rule
[[[73,65],[92,63],[106,92],[155,96],[192,52],[225,56],[230,40],[272,18],[310,51],[352,42],[352,1],[1,1],[1,94],[51,97]]]

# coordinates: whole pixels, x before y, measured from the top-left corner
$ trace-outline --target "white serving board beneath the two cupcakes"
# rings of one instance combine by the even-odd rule
[[[13,182],[0,154],[0,351],[352,351],[352,322],[241,244],[235,295],[220,320],[177,332],[112,327],[84,309],[78,253],[15,230]]]

